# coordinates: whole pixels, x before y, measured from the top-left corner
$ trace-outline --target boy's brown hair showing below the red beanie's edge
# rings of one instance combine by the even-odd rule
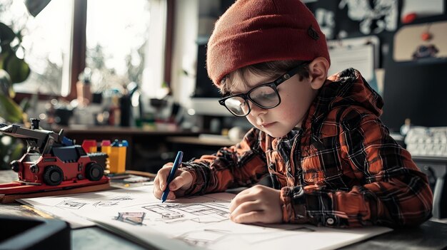
[[[238,84],[241,84],[234,82],[236,75],[239,79],[242,79],[242,84],[247,85],[248,81],[246,79],[246,73],[276,78],[298,66],[301,67],[298,68],[297,75],[299,76],[300,80],[303,80],[303,78],[309,77],[308,63],[308,61],[296,60],[268,61],[238,68],[236,71],[228,73],[224,76],[224,78],[222,78],[219,84],[219,90],[224,96],[231,94],[233,89],[236,88]]]

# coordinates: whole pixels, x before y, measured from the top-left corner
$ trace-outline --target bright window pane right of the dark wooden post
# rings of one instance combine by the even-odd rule
[[[141,83],[150,17],[148,0],[88,1],[86,67],[91,69],[92,90]]]

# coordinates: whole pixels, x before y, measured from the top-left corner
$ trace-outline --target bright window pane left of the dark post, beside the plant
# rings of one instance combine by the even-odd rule
[[[72,13],[73,1],[53,0],[33,17],[23,0],[2,0],[0,21],[23,36],[16,56],[31,69],[24,82],[14,84],[16,92],[68,93]]]

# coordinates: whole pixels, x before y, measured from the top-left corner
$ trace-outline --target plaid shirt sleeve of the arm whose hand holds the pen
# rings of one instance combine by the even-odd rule
[[[256,184],[268,174],[261,140],[260,131],[253,128],[236,145],[182,163],[181,168],[193,176],[193,184],[186,194],[222,192],[231,187]]]

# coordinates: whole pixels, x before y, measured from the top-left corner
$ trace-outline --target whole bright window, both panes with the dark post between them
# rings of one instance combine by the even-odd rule
[[[84,67],[91,69],[93,91],[123,90],[130,82],[161,88],[169,1],[52,0],[33,17],[24,0],[1,0],[0,21],[21,31],[17,55],[31,68],[14,89],[75,98]]]

